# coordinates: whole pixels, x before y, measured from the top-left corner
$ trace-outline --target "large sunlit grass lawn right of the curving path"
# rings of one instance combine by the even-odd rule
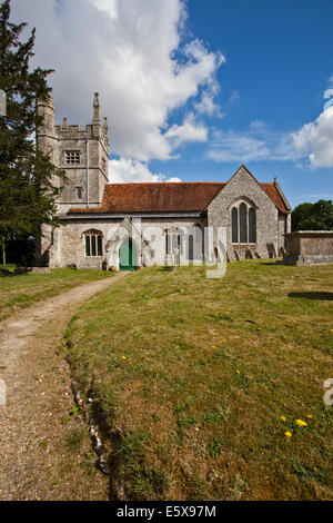
[[[83,305],[67,352],[111,442],[111,492],[332,499],[332,265],[249,260],[216,280],[148,268]]]

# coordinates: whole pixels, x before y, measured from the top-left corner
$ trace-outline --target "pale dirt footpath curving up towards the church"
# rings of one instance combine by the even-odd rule
[[[0,500],[107,500],[58,349],[79,305],[125,276],[75,287],[0,323]]]

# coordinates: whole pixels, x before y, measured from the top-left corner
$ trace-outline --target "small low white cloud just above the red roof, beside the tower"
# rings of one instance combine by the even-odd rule
[[[164,175],[153,174],[147,164],[125,158],[109,161],[109,180],[112,184],[181,181],[180,178],[171,177],[167,179]]]

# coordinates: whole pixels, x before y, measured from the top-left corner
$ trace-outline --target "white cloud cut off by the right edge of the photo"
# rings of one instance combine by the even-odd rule
[[[333,107],[292,135],[295,150],[312,168],[333,167]]]

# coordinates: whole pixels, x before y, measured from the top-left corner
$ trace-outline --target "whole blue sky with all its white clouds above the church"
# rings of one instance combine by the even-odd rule
[[[33,65],[56,69],[57,121],[89,124],[100,92],[110,181],[225,181],[245,164],[293,207],[333,199],[332,0],[11,3],[37,29]]]

